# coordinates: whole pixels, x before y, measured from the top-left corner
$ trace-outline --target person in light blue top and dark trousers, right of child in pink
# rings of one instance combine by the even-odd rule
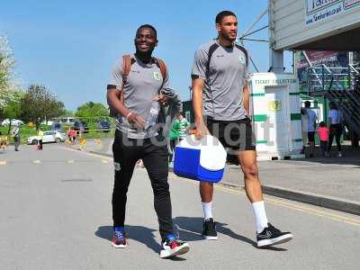
[[[328,153],[330,153],[332,141],[335,137],[338,146],[338,157],[342,157],[341,154],[341,134],[343,133],[343,114],[338,111],[335,103],[330,103],[329,111],[329,147]]]

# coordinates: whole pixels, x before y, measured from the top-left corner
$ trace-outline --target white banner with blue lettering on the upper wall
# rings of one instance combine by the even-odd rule
[[[312,26],[360,7],[360,0],[304,0],[305,25]]]

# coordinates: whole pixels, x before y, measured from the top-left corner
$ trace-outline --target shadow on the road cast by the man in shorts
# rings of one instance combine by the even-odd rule
[[[202,218],[191,218],[191,217],[176,217],[174,219],[174,226],[178,230],[180,238],[184,241],[193,242],[204,240],[202,238]],[[242,242],[257,247],[257,243],[250,238],[238,235],[231,229],[227,228],[227,223],[216,221],[216,230],[220,234],[229,236],[230,238],[238,239]],[[286,251],[285,248],[280,247],[263,247],[261,249],[269,249],[274,251]]]

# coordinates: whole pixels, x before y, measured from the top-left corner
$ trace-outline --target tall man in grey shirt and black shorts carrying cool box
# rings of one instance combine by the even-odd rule
[[[247,198],[252,202],[256,218],[257,247],[284,243],[293,235],[275,229],[266,218],[258,178],[257,152],[248,118],[247,50],[235,43],[238,33],[236,15],[229,11],[218,14],[216,29],[218,39],[200,46],[193,60],[195,136],[198,139],[206,133],[216,136],[224,147],[229,148],[229,157],[240,164]],[[212,184],[201,182],[204,212],[202,236],[206,239],[218,238],[211,213],[212,194]]]

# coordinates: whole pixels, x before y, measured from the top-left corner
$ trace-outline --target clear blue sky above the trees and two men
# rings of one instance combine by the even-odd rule
[[[256,21],[267,0],[151,0],[151,1],[4,1],[0,34],[14,51],[15,76],[26,89],[45,85],[69,110],[85,102],[106,103],[106,85],[117,58],[134,52],[139,25],[157,29],[154,56],[163,58],[170,86],[189,99],[195,49],[216,38],[215,16],[222,10],[238,15],[238,35]],[[267,25],[267,15],[254,30]],[[267,30],[251,36],[268,40]],[[258,69],[268,69],[268,44],[246,41]],[[286,71],[292,58],[286,55]],[[250,67],[255,71],[254,67]]]

